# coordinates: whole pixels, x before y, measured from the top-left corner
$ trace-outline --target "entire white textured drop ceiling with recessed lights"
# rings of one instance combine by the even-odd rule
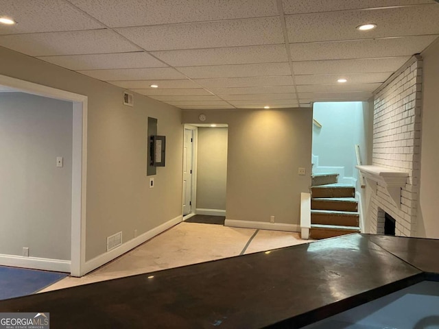
[[[183,109],[364,101],[439,36],[434,0],[1,0],[0,16],[18,22],[1,47]]]

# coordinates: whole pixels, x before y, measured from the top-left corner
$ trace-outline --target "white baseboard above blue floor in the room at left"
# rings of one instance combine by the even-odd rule
[[[0,265],[70,273],[70,260],[0,254]]]

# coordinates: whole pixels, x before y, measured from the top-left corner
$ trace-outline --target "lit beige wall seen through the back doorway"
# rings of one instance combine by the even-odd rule
[[[227,128],[199,127],[197,208],[226,210]]]

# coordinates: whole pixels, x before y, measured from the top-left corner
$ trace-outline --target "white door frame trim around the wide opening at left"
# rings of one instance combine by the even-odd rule
[[[24,93],[73,102],[72,133],[72,171],[71,171],[71,260],[54,261],[38,258],[33,261],[34,267],[53,266],[62,271],[70,271],[71,276],[84,275],[85,265],[85,232],[86,232],[86,178],[87,178],[87,113],[88,97],[66,90],[60,90],[34,82],[0,75],[0,84],[18,89]],[[16,258],[16,259],[15,259]],[[14,266],[23,267],[21,257],[11,256]],[[29,264],[28,262],[26,262]]]

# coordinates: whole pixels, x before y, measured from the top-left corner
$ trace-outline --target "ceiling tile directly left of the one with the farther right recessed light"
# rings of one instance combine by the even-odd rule
[[[293,84],[291,75],[281,77],[224,77],[220,79],[195,79],[193,81],[206,88],[287,86]]]

